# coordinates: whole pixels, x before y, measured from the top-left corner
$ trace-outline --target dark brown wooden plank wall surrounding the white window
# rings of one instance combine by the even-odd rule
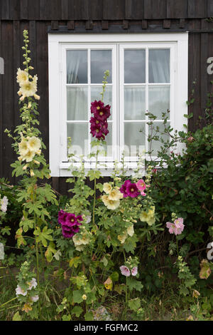
[[[204,115],[207,92],[212,91],[207,75],[207,58],[213,56],[213,0],[0,0],[0,177],[11,182],[10,164],[16,159],[4,129],[20,122],[16,71],[23,62],[23,29],[30,36],[31,58],[38,74],[40,130],[48,148],[48,30],[75,32],[189,31],[189,95],[195,86],[194,118],[190,130]],[[46,152],[48,159],[48,150]],[[67,192],[66,178],[53,178],[59,192]]]

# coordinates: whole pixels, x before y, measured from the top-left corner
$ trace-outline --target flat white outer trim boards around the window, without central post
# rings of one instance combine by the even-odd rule
[[[188,33],[128,33],[128,34],[48,34],[48,61],[49,61],[49,158],[50,170],[52,177],[70,176],[71,172],[67,170],[67,163],[61,163],[60,157],[62,152],[62,126],[61,126],[61,101],[62,87],[60,86],[60,74],[64,73],[65,64],[61,63],[62,46],[65,44],[77,44],[78,46],[89,43],[151,43],[152,46],[160,43],[161,47],[165,44],[175,44],[175,59],[171,68],[171,76],[175,76],[175,81],[170,79],[170,82],[175,83],[174,96],[171,97],[171,102],[174,103],[174,120],[171,120],[171,125],[178,131],[185,130],[183,127],[187,120],[184,114],[187,114],[187,91],[188,91]],[[119,71],[119,69],[117,70]],[[118,73],[116,73],[117,75]],[[117,108],[119,106],[117,105]],[[171,115],[171,119],[173,116]],[[119,124],[117,124],[117,127]],[[178,148],[181,151],[181,148]],[[110,165],[110,163],[109,163]],[[134,168],[134,164],[129,164],[129,168]],[[86,166],[89,170],[91,164]],[[110,166],[109,166],[110,168]],[[103,175],[109,175],[109,170],[103,170]]]

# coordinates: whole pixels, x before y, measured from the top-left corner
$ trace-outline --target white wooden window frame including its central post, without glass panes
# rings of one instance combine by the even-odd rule
[[[124,133],[122,131],[124,115],[124,71],[122,69],[122,56],[119,56],[124,48],[170,48],[170,109],[173,110],[170,118],[170,125],[178,131],[184,131],[183,124],[187,123],[184,114],[187,114],[187,91],[188,91],[188,33],[49,33],[48,34],[48,58],[49,58],[49,158],[50,170],[52,177],[68,177],[71,175],[68,170],[70,163],[63,162],[65,151],[63,143],[65,138],[65,115],[67,106],[65,105],[65,88],[62,82],[65,82],[66,63],[65,51],[67,46],[70,48],[87,48],[94,44],[94,48],[109,48],[114,43],[119,43],[118,48],[114,51],[114,57],[120,58],[121,62],[117,71],[112,71],[112,83],[116,83],[116,78],[120,78],[119,92],[116,96],[119,99],[115,101],[113,93],[113,125],[116,127],[116,137],[113,136],[113,143],[122,143]],[[146,62],[147,63],[147,62]],[[112,64],[113,65],[113,64]],[[146,85],[148,85],[148,68],[146,66]],[[84,84],[82,84],[84,86]],[[122,87],[123,86],[123,87]],[[147,89],[146,89],[147,91]],[[146,93],[147,101],[147,93]],[[61,112],[64,113],[61,113]],[[158,122],[159,120],[156,120]],[[121,129],[119,129],[119,127]],[[147,125],[146,125],[147,127]],[[65,135],[64,135],[65,136]],[[147,141],[147,139],[146,139]],[[181,148],[178,148],[181,151]],[[116,145],[114,159],[120,159],[119,150]],[[136,167],[136,158],[126,158],[126,166],[129,170]],[[75,163],[76,167],[79,163]],[[85,169],[94,168],[94,163],[85,163]],[[113,162],[107,163],[107,169],[102,170],[102,175],[110,175],[113,169]]]

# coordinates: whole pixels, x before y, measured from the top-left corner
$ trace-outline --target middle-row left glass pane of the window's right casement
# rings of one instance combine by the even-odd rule
[[[145,87],[124,86],[125,120],[144,120],[146,110]]]

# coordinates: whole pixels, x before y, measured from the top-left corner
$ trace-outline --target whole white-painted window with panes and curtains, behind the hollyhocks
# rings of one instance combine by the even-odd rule
[[[187,33],[52,34],[49,39],[50,170],[68,176],[70,153],[84,155],[85,168],[94,167],[90,152],[90,104],[100,100],[104,71],[109,70],[104,103],[111,105],[107,163],[109,175],[124,153],[135,168],[138,154],[148,151],[147,111],[157,116],[170,110],[168,123],[184,130],[187,114]],[[154,143],[153,156],[160,145]],[[76,163],[78,164],[78,163]]]

